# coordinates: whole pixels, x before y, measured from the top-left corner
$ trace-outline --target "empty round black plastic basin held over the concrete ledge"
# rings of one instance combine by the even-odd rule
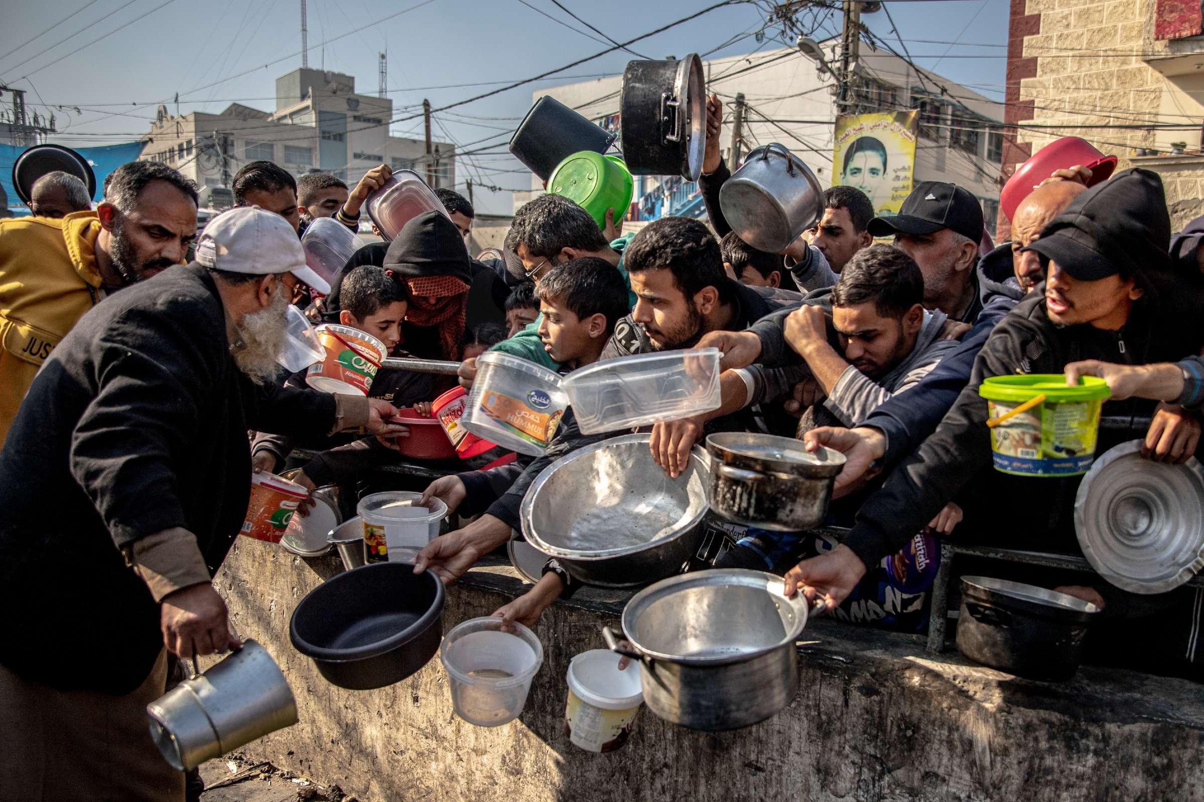
[[[443,640],[443,583],[411,563],[374,563],[311,590],[289,637],[334,685],[384,688],[426,665]]]

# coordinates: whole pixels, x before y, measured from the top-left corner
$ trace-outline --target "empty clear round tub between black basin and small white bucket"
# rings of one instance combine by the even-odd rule
[[[468,724],[498,726],[526,705],[543,646],[523,624],[513,626],[512,635],[502,631],[501,618],[473,618],[443,638],[439,661],[450,678],[452,706]]]

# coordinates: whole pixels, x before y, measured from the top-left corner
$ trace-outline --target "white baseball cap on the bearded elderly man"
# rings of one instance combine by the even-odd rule
[[[330,293],[330,285],[305,262],[301,239],[289,221],[258,206],[240,206],[213,218],[196,242],[205,267],[248,275],[291,273],[309,289]]]

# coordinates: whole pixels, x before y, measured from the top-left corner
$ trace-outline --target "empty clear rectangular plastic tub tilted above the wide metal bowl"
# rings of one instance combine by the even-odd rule
[[[565,376],[582,434],[630,429],[718,409],[719,349],[638,354]]]

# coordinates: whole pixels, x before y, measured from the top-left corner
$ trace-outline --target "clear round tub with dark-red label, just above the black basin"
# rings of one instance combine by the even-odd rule
[[[439,536],[448,507],[439,499],[419,506],[421,493],[389,491],[365,495],[355,506],[364,522],[364,559],[367,563],[413,563],[426,543]]]

